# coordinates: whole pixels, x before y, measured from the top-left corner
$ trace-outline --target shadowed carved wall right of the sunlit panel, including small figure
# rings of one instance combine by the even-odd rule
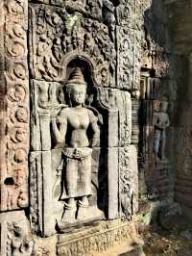
[[[191,218],[192,3],[144,2],[138,106],[139,195],[153,201],[177,201]],[[158,132],[161,121],[166,123],[164,135]]]

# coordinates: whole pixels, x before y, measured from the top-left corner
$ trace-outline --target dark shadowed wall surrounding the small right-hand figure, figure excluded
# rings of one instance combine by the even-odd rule
[[[192,168],[189,167],[192,159],[192,5],[185,0],[163,2],[154,0],[150,4],[149,1],[144,12],[142,46],[143,60],[147,63],[142,64],[141,74],[148,72],[152,82],[150,92],[141,99],[144,108],[142,144],[144,149],[151,148],[151,151],[143,150],[145,177],[152,191],[157,189],[164,195],[172,191],[176,201],[191,209],[191,194],[187,188],[192,184]],[[163,168],[166,170],[165,166],[157,167],[156,161],[154,165],[151,142],[154,141],[155,103],[161,97],[167,98],[170,117],[165,150],[169,165],[164,176],[160,173]]]

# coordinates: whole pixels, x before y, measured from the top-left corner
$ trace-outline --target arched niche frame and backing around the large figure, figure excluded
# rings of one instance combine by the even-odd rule
[[[38,198],[36,201],[35,194],[33,226],[34,230],[40,232],[42,236],[50,236],[57,231],[62,231],[60,219],[63,216],[63,207],[68,202],[68,197],[60,197],[66,184],[63,176],[65,141],[59,142],[59,140],[56,140],[53,120],[56,121],[60,129],[60,120],[63,118],[60,113],[65,110],[66,115],[70,108],[67,100],[65,101],[65,97],[67,99],[65,86],[67,81],[70,80],[70,74],[75,67],[81,68],[84,80],[87,83],[87,96],[90,96],[84,107],[92,111],[97,117],[101,115],[103,124],[99,128],[100,143],[91,147],[92,192],[90,199],[88,198],[91,215],[88,214],[86,215],[88,218],[81,220],[75,218],[72,223],[66,225],[64,223],[63,229],[70,228],[71,225],[88,224],[96,219],[119,218],[121,214],[119,210],[119,169],[121,168],[119,154],[124,158],[124,152],[118,146],[130,140],[131,97],[129,92],[109,89],[106,85],[98,83],[97,64],[89,55],[73,51],[61,59],[60,74],[56,81],[33,81],[31,87],[33,106],[31,118],[33,123],[32,144],[34,151],[31,152],[30,156],[30,168],[31,183],[34,183],[35,186],[37,184],[36,188],[32,187],[31,193],[33,194],[35,191]],[[64,94],[63,101],[59,100],[59,90],[61,95]],[[126,102],[126,104],[121,106],[122,102]],[[129,131],[128,129],[125,131],[125,121],[129,121]],[[68,127],[72,127],[71,123],[67,123]],[[91,131],[88,134],[87,130],[86,135],[88,138]],[[70,136],[70,131],[68,136]],[[76,206],[79,207],[78,200],[77,197]],[[78,211],[76,212],[78,214]],[[58,227],[60,230],[58,230]]]

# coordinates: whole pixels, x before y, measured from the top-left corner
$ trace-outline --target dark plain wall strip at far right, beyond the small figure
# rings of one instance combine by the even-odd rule
[[[176,187],[175,199],[183,213],[191,218],[191,84],[192,84],[192,3],[174,1],[170,4],[173,45],[180,56],[181,80],[178,87],[178,110],[176,115]]]

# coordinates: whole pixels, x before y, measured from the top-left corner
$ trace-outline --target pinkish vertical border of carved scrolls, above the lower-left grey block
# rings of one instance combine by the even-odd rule
[[[0,210],[28,206],[29,79],[27,64],[28,1],[1,6],[1,199]],[[3,33],[3,36],[2,36]]]

